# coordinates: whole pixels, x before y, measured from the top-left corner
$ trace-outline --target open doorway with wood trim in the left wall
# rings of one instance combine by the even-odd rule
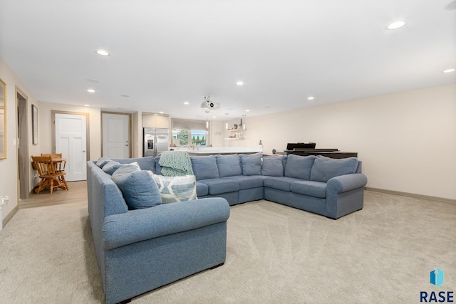
[[[30,194],[30,166],[28,159],[28,105],[27,95],[16,86],[16,115],[17,115],[17,167],[19,199],[28,199]]]

